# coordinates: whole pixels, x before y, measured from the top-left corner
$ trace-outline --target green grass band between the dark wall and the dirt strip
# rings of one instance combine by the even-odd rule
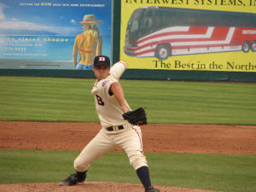
[[[98,121],[94,79],[0,77],[0,119]],[[120,80],[149,123],[256,125],[256,85]]]

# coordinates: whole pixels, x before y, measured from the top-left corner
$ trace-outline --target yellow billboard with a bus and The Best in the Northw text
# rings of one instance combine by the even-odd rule
[[[121,3],[120,59],[135,69],[256,72],[254,1]]]

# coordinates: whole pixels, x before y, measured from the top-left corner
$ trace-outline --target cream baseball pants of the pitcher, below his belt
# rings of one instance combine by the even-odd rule
[[[74,168],[78,172],[89,169],[90,164],[112,151],[117,146],[123,148],[130,159],[131,166],[137,170],[141,166],[148,166],[143,154],[143,140],[141,128],[137,125],[125,125],[124,130],[108,131],[102,128],[90,143],[74,160]]]

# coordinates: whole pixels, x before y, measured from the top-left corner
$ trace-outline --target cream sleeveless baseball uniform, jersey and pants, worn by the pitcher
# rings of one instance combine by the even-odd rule
[[[93,85],[91,93],[95,96],[96,112],[101,121],[102,130],[74,160],[74,167],[78,172],[87,171],[93,161],[117,146],[125,150],[135,170],[148,166],[146,157],[143,155],[141,128],[123,119],[123,110],[110,91],[111,84],[119,81],[125,69],[125,62],[119,61],[111,67],[110,75],[106,79],[96,81]]]

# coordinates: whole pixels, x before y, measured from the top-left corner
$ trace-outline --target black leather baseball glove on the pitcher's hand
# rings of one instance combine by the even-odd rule
[[[123,118],[128,120],[132,125],[146,125],[147,116],[143,108],[137,108],[123,114]]]

